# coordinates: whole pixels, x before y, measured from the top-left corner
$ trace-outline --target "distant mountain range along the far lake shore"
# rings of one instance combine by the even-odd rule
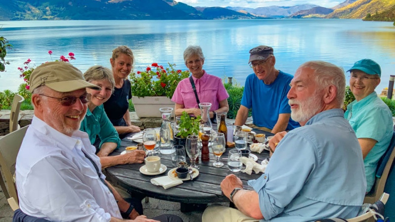
[[[2,0],[0,20],[360,19],[370,14],[371,20],[391,21],[394,5],[395,0],[346,0],[332,8],[314,4],[223,8],[192,7],[175,0]],[[386,16],[379,16],[384,12]]]

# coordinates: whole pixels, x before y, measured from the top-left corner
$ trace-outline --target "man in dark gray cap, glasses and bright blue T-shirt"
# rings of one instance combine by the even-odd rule
[[[260,45],[251,49],[248,63],[254,74],[247,76],[235,125],[244,125],[248,110],[252,108],[252,127],[271,133],[299,127],[299,123],[290,118],[291,108],[287,99],[293,76],[274,68],[273,48]]]

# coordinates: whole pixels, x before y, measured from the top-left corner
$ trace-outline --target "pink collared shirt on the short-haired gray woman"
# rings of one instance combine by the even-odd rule
[[[199,101],[201,103],[211,103],[210,111],[218,110],[219,102],[227,99],[229,95],[219,77],[207,74],[204,70],[203,72],[204,74],[200,78],[192,76]],[[183,104],[185,109],[199,108],[189,78],[184,78],[178,83],[172,101],[177,104]]]

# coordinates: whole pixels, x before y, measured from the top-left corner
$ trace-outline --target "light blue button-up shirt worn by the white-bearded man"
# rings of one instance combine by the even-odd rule
[[[362,151],[340,109],[323,111],[286,134],[265,173],[248,182],[265,220],[349,219],[366,190]],[[262,220],[264,221],[264,220]]]

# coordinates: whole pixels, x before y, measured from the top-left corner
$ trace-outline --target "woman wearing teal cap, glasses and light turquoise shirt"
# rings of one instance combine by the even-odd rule
[[[355,100],[344,113],[362,148],[366,174],[366,192],[375,181],[377,163],[390,145],[393,119],[388,106],[374,91],[380,83],[381,68],[371,59],[354,63],[350,70],[350,89]]]

